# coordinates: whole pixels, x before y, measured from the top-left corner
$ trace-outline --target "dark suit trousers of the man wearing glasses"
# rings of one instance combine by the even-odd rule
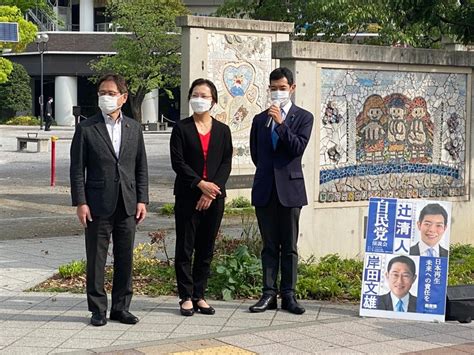
[[[104,273],[110,236],[112,236],[114,256],[111,310],[128,311],[133,294],[132,270],[135,229],[135,216],[128,216],[125,212],[121,192],[115,212],[110,217],[92,216],[92,222],[87,222],[87,303],[89,311],[107,311]]]

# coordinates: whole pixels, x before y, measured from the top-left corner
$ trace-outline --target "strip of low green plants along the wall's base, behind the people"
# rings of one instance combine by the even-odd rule
[[[211,265],[208,295],[230,300],[256,298],[261,293],[262,267],[259,258],[260,235],[244,221],[240,238],[219,235]],[[256,227],[255,227],[256,228]],[[147,296],[176,295],[173,259],[168,257],[166,231],[150,232],[150,242],[134,250],[133,288]],[[157,255],[161,254],[161,258]],[[163,257],[164,255],[164,257]],[[164,260],[163,260],[164,259]],[[62,265],[59,272],[30,291],[85,292],[85,261]],[[363,262],[337,254],[300,261],[297,297],[301,299],[359,302]],[[106,268],[106,290],[112,289],[113,268]],[[452,244],[449,260],[449,285],[474,284],[474,247]]]

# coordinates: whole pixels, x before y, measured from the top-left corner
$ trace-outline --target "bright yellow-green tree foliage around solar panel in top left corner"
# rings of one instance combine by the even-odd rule
[[[17,22],[20,36],[18,43],[0,41],[0,53],[5,49],[21,52],[35,39],[36,26],[23,19],[20,9],[16,6],[0,6],[0,22]],[[0,58],[0,84],[8,80],[8,75],[12,70],[12,63],[6,58]]]

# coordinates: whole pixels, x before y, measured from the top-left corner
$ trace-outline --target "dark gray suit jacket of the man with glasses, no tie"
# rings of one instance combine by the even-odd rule
[[[138,202],[148,203],[148,166],[141,125],[122,116],[117,158],[102,113],[82,121],[72,139],[70,178],[73,206],[87,204],[92,215],[111,216],[121,188],[127,214],[135,214]]]

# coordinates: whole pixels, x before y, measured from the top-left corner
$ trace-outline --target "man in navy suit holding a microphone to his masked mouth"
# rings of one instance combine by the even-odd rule
[[[272,106],[256,115],[250,132],[250,153],[257,167],[252,187],[263,239],[263,295],[251,312],[277,308],[277,275],[281,265],[281,308],[302,314],[295,298],[298,223],[308,203],[301,158],[311,136],[313,115],[291,102],[296,85],[288,68],[270,73]]]

